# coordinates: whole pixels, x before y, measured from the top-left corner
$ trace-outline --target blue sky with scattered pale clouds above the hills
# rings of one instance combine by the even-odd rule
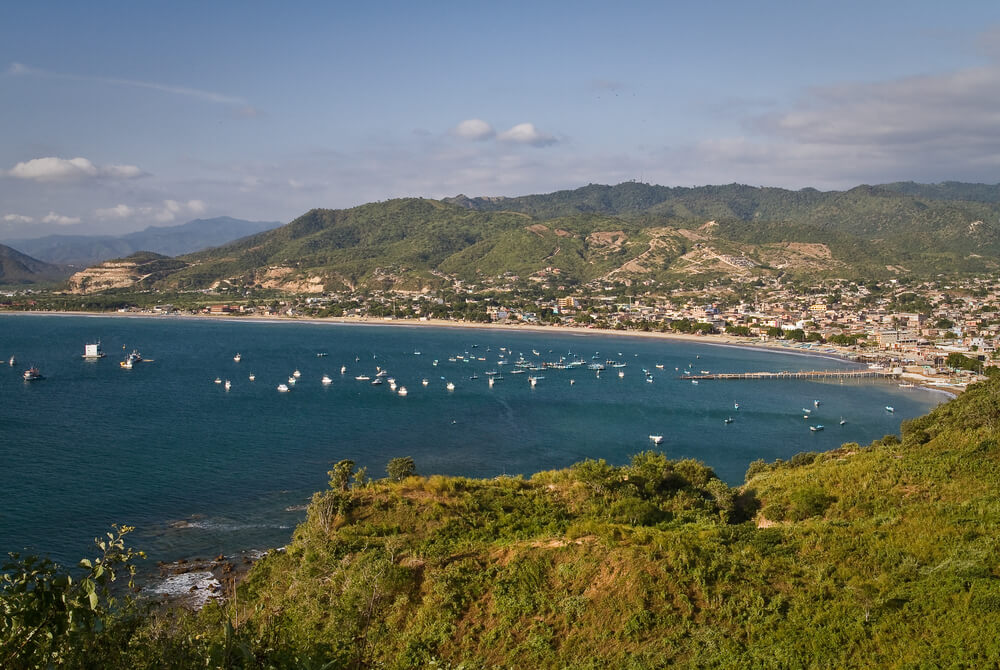
[[[998,183],[1000,3],[0,12],[0,239],[632,180]]]

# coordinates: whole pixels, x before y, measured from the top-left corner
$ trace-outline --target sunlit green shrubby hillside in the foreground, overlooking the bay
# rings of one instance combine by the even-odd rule
[[[122,668],[1000,659],[1000,379],[901,436],[755,462],[738,489],[653,452],[528,479],[414,472],[397,460],[370,481],[338,463],[287,550],[197,614],[119,605],[100,625],[50,627],[36,648],[17,647],[29,624],[11,612],[41,601],[15,597],[8,566],[4,658]]]

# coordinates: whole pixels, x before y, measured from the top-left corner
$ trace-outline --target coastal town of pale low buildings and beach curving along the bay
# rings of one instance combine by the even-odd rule
[[[815,285],[721,280],[697,288],[628,280],[570,287],[555,274],[527,281],[507,274],[484,284],[447,279],[447,288],[422,291],[275,294],[217,286],[173,294],[182,297],[176,304],[156,301],[157,294],[119,296],[102,311],[686,336],[836,354],[892,369],[904,384],[953,393],[1000,366],[1000,283],[983,277]],[[8,291],[0,309],[70,308],[53,304],[56,295]]]

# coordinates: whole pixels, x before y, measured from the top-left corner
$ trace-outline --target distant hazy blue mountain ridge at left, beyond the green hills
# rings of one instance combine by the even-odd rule
[[[195,219],[177,226],[150,226],[125,235],[47,235],[5,242],[49,263],[86,266],[137,251],[179,256],[280,225],[278,221],[246,221],[219,216]]]

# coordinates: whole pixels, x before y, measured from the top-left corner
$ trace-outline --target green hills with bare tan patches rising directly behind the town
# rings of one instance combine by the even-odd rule
[[[1000,186],[821,192],[627,182],[518,198],[407,198],[314,209],[178,260],[176,271],[157,273],[157,286],[317,292],[504,274],[573,285],[987,272],[1000,267]]]

